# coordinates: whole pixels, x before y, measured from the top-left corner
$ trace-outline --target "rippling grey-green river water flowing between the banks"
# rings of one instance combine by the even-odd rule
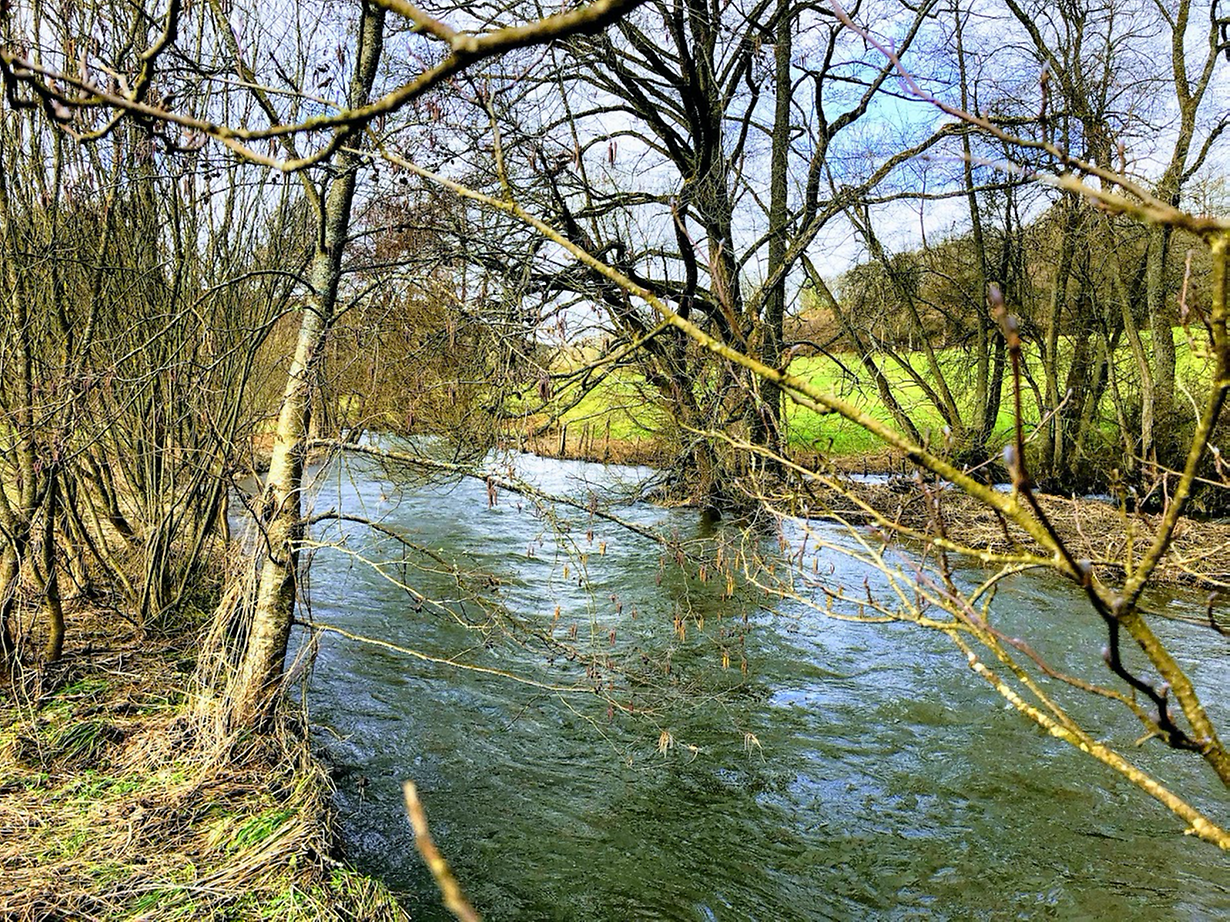
[[[515,463],[583,504],[648,473],[530,456]],[[491,920],[1230,912],[1230,864],[1215,848],[1007,709],[942,636],[797,605],[771,611],[747,589],[726,601],[721,580],[685,578],[651,541],[584,510],[551,520],[514,495],[494,506],[488,499],[475,481],[395,489],[352,461],[321,476],[316,508],[378,518],[442,558],[462,558],[494,575],[504,605],[534,623],[550,625],[558,606],[556,636],[641,664],[648,685],[620,693],[657,709],[610,712],[593,693],[323,634],[309,699],[336,766],[348,857],[403,894],[415,918],[446,913],[405,819],[406,778]],[[706,527],[695,511],[643,503],[616,511],[696,547],[744,540],[738,525]],[[540,645],[504,643],[433,612],[360,559],[399,561],[390,541],[358,525],[326,534],[344,541],[315,554],[317,621],[549,685],[577,681],[577,663],[549,665]],[[876,577],[841,554],[822,561],[856,593]],[[578,573],[588,585],[578,586]],[[396,565],[386,574],[403,575]],[[443,573],[406,577],[424,595],[458,595]],[[1060,665],[1087,674],[1096,663],[1102,631],[1069,586],[1017,578],[996,606],[1001,623],[1038,638]],[[1182,634],[1183,664],[1224,725],[1225,639],[1162,627]],[[1139,725],[1124,717],[1111,725],[1130,747]],[[1199,760],[1156,745],[1135,755],[1214,816],[1224,808]]]

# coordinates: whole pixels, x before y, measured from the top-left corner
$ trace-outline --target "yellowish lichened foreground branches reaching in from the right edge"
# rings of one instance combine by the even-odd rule
[[[839,18],[851,32],[866,38],[894,68],[920,98],[937,106],[969,130],[977,130],[1009,149],[1028,156],[1037,143],[1012,135],[1002,125],[984,116],[973,114],[951,103],[937,100],[920,89],[918,81],[904,68],[894,50],[855,25],[840,7],[834,7]],[[1058,156],[1055,148],[1044,144],[1046,152]],[[406,168],[416,167],[406,161]],[[921,522],[886,515],[860,495],[857,491],[843,486],[825,475],[814,475],[801,468],[796,473],[818,488],[836,491],[852,500],[879,530],[879,535],[859,540],[865,562],[879,568],[888,578],[893,595],[875,599],[870,590],[866,597],[850,599],[843,588],[825,589],[812,601],[820,610],[836,609],[839,617],[855,620],[902,620],[932,629],[948,637],[966,656],[969,668],[986,681],[1005,701],[1026,718],[1046,729],[1081,752],[1122,774],[1167,809],[1181,816],[1189,832],[1221,848],[1230,848],[1230,833],[1223,825],[1210,819],[1199,806],[1171,790],[1164,782],[1141,771],[1113,745],[1100,738],[1100,731],[1074,715],[1066,698],[1079,701],[1091,695],[1125,708],[1145,729],[1146,739],[1156,739],[1180,754],[1202,758],[1214,774],[1230,787],[1230,755],[1220,740],[1218,729],[1207,712],[1200,693],[1187,675],[1178,658],[1155,632],[1149,613],[1143,607],[1143,594],[1159,572],[1164,559],[1173,551],[1177,529],[1197,481],[1202,463],[1215,454],[1213,433],[1223,419],[1226,396],[1230,393],[1230,223],[1225,219],[1187,214],[1159,199],[1129,178],[1097,164],[1065,156],[1071,172],[1049,177],[1048,182],[1060,191],[1070,192],[1080,200],[1145,225],[1167,225],[1172,231],[1186,231],[1205,241],[1212,263],[1209,279],[1209,310],[1204,317],[1209,374],[1203,396],[1203,406],[1194,435],[1184,451],[1181,473],[1176,477],[1162,514],[1148,525],[1146,547],[1137,553],[1133,541],[1125,541],[1127,551],[1119,559],[1093,561],[1081,556],[1079,532],[1057,526],[1057,506],[1039,498],[1030,473],[1026,441],[1027,422],[1023,414],[1023,341],[1021,321],[1010,311],[1009,304],[998,286],[989,290],[991,316],[996,318],[1004,337],[1004,347],[1010,369],[1012,413],[1015,433],[1005,451],[1005,463],[1012,477],[1010,493],[998,492],[979,482],[969,472],[956,466],[942,452],[902,435],[875,416],[825,391],[811,381],[793,376],[788,371],[766,365],[753,355],[722,342],[701,323],[681,315],[661,297],[649,285],[630,277],[620,268],[603,262],[569,238],[567,230],[557,230],[547,221],[531,214],[510,195],[491,195],[470,189],[446,177],[435,179],[467,199],[493,211],[509,215],[554,245],[562,247],[588,270],[616,285],[629,297],[649,305],[662,323],[685,334],[704,349],[740,368],[772,381],[797,404],[822,413],[834,413],[856,423],[883,444],[902,451],[919,468],[920,475],[934,476],[957,487],[972,503],[988,513],[988,519],[1002,529],[1004,550],[978,547],[961,536],[950,534],[945,524],[943,494],[926,481],[921,482],[920,498],[925,513]],[[427,175],[421,168],[421,175]],[[1037,175],[1036,175],[1037,176]],[[1090,184],[1091,179],[1095,184]],[[738,441],[738,440],[736,440]],[[750,452],[765,452],[763,445],[748,440],[742,447]],[[779,462],[788,460],[779,456]],[[1223,486],[1226,486],[1223,483]],[[815,498],[813,492],[812,499]],[[1127,515],[1127,510],[1123,510]],[[918,524],[915,524],[918,522]],[[1129,530],[1143,527],[1145,522],[1130,522]],[[883,537],[884,535],[892,537]],[[927,557],[921,563],[898,568],[886,559],[884,552],[894,538],[921,541]],[[831,550],[840,550],[833,547]],[[950,554],[962,554],[990,568],[985,579],[972,590],[958,585],[950,565]],[[803,548],[798,550],[803,557]],[[931,563],[934,561],[934,563]],[[1178,563],[1182,565],[1182,562]],[[1073,676],[1055,669],[1026,639],[1004,633],[995,623],[991,611],[998,585],[1022,569],[1047,569],[1071,580],[1084,593],[1090,609],[1101,620],[1107,632],[1107,644],[1102,654],[1105,666],[1116,684],[1105,686],[1081,676]],[[772,570],[769,570],[772,573]],[[760,578],[756,574],[754,578]],[[792,584],[777,591],[801,596]],[[1221,629],[1212,611],[1208,629]],[[1125,645],[1130,640],[1148,665],[1141,668],[1128,656]],[[1000,664],[999,666],[994,664]],[[1002,674],[996,671],[1002,666]],[[1157,677],[1153,679],[1145,671]]]

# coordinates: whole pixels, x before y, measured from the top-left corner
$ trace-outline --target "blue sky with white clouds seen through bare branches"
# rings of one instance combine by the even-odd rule
[[[1166,0],[1173,5],[1176,0]],[[740,34],[743,25],[739,16],[750,9],[752,0],[731,0],[723,7],[723,14],[729,22],[729,34]],[[1108,80],[1111,109],[1118,128],[1117,134],[1124,140],[1125,155],[1129,170],[1143,177],[1156,176],[1160,165],[1165,160],[1167,146],[1173,143],[1175,119],[1172,93],[1167,96],[1166,68],[1161,66],[1166,61],[1162,54],[1166,50],[1166,36],[1161,31],[1161,20],[1156,15],[1156,7],[1149,0],[1100,0],[1098,4],[1089,4],[1090,10],[1085,17],[1086,27],[1091,31],[1092,38],[1097,34],[1112,34],[1130,37],[1122,47],[1114,45],[1113,60],[1117,70]],[[21,27],[21,4],[17,5],[17,27]],[[151,6],[160,11],[159,5]],[[203,5],[197,7],[204,9]],[[258,2],[257,0],[240,0],[230,6],[230,23],[235,38],[240,45],[245,61],[257,71],[260,82],[273,91],[285,89],[289,81],[303,82],[306,92],[315,97],[315,101],[296,100],[293,95],[280,95],[274,92],[276,104],[290,116],[301,117],[317,109],[325,109],[338,104],[344,93],[349,70],[353,66],[353,18],[355,14],[353,4],[325,2],[312,0],[312,2],[293,2],[282,0],[277,4]],[[492,16],[504,16],[512,18],[518,15],[517,10],[524,10],[525,15],[542,12],[540,7],[508,7],[509,12],[497,12],[491,7]],[[1036,16],[1036,22],[1044,33],[1059,32],[1065,26],[1057,16],[1058,7],[1044,2],[1034,2],[1031,7]],[[466,7],[462,7],[466,10]],[[902,36],[908,27],[910,12],[895,0],[876,0],[862,5],[863,18],[868,31],[881,42],[891,47],[898,47]],[[465,25],[475,21],[475,14],[486,15],[483,7],[472,7],[467,12],[453,14],[451,21]],[[550,11],[550,10],[549,10]],[[547,12],[549,12],[547,11]],[[980,93],[978,103],[990,104],[991,97],[999,96],[1012,100],[1009,108],[1015,108],[1017,113],[1030,114],[1041,106],[1041,66],[1036,61],[1036,55],[1027,41],[1025,31],[1015,23],[1002,6],[1002,0],[968,0],[962,4],[966,15],[966,38],[969,49],[969,70],[977,75],[978,91]],[[458,18],[458,16],[461,18]],[[930,22],[922,37],[907,54],[904,63],[911,74],[918,75],[919,82],[926,90],[937,96],[954,100],[953,75],[954,65],[951,54],[951,11],[937,14],[937,20]],[[652,16],[647,9],[635,14],[638,22],[646,26],[649,34],[654,34]],[[814,68],[823,57],[824,43],[831,27],[833,18],[823,11],[811,9],[803,14],[795,39],[795,54],[792,77],[800,84],[806,84],[807,70]],[[657,25],[661,32],[661,23]],[[1197,4],[1193,7],[1192,26],[1188,32],[1187,49],[1193,57],[1203,54],[1202,43],[1205,41],[1208,28],[1208,6]],[[424,64],[430,63],[435,52],[422,37],[407,32],[405,23],[397,17],[390,17],[387,30],[386,66],[383,80],[385,86],[395,85],[416,74]],[[755,61],[755,80],[763,86],[761,100],[755,109],[755,118],[763,123],[771,120],[772,108],[772,44],[764,41],[769,37],[759,36],[759,50]],[[663,36],[663,44],[669,44]],[[720,48],[721,55],[729,55],[734,48],[733,41]],[[1105,58],[1100,58],[1096,42],[1089,41],[1090,60],[1096,68]],[[556,57],[566,54],[562,50],[554,53]],[[520,81],[533,82],[536,75],[542,74],[551,64],[552,53],[534,50],[519,53],[491,69],[498,81],[510,81],[514,77]],[[851,103],[852,98],[861,91],[860,82],[868,80],[875,71],[883,65],[883,55],[871,48],[862,38],[845,34],[834,57],[836,66],[834,75],[847,84],[834,82],[827,91],[824,114],[834,118]],[[1219,66],[1214,86],[1210,90],[1209,102],[1205,107],[1202,132],[1207,133],[1210,120],[1226,113],[1226,100],[1230,100],[1230,65]],[[101,71],[100,71],[101,73]],[[649,75],[646,75],[649,79]],[[466,87],[472,89],[472,84],[462,80],[459,87],[462,92]],[[215,80],[214,87],[225,89],[223,77]],[[844,92],[841,92],[844,87]],[[836,92],[835,92],[836,91]],[[515,93],[515,116],[530,128],[558,118],[563,113],[565,100],[558,93],[558,87],[550,82],[533,84],[529,90],[523,86],[513,86],[509,96]],[[588,93],[588,95],[587,95]],[[226,98],[224,95],[219,100]],[[736,100],[731,107],[727,129],[727,146],[733,146],[738,130],[738,119],[743,116],[747,106],[748,93],[744,92],[743,102]],[[588,107],[599,107],[611,102],[594,90],[579,91],[576,86],[568,87],[567,103],[573,112],[583,111]],[[221,103],[214,103],[220,106]],[[295,109],[294,107],[299,108]],[[240,118],[245,124],[261,124],[262,116],[255,112],[250,101],[231,109],[218,109],[219,113]],[[408,122],[408,129],[402,133],[403,138],[417,138],[419,146],[412,154],[428,157],[432,166],[444,165],[449,168],[448,156],[456,155],[454,166],[459,167],[464,162],[474,164],[487,159],[490,166],[490,132],[483,130],[483,125],[476,122],[477,109],[467,106],[450,108],[446,117],[460,119],[458,123],[459,134],[449,138],[445,132],[448,123],[435,128],[423,124],[434,118],[430,108],[416,106],[402,113],[402,120]],[[818,112],[811,95],[797,92],[795,98],[795,111],[792,120],[798,129],[814,125]],[[466,124],[469,120],[469,124]],[[919,100],[911,95],[904,81],[893,76],[884,84],[884,92],[871,104],[867,116],[860,119],[851,129],[843,133],[830,148],[828,168],[831,172],[831,181],[840,186],[844,181],[855,181],[860,175],[865,175],[870,168],[881,162],[883,157],[895,150],[902,149],[910,141],[925,136],[942,123],[952,119],[938,112],[932,104]],[[572,148],[571,132],[567,127],[557,127],[551,134],[554,140],[545,143],[545,149],[569,151]],[[652,148],[645,143],[647,134],[645,127],[637,119],[616,112],[594,114],[583,119],[578,125],[582,144],[585,148],[583,162],[588,179],[598,189],[627,191],[638,189],[659,195],[675,194],[680,187],[680,177],[675,168],[664,161]],[[614,146],[606,143],[606,138],[614,138]],[[427,140],[424,140],[427,139]],[[589,141],[598,139],[598,143],[589,145]],[[320,143],[321,138],[304,139],[301,144],[309,146]],[[429,141],[429,143],[428,143]],[[985,150],[985,149],[984,149]],[[801,198],[801,184],[806,176],[806,159],[811,154],[806,134],[800,134],[793,141],[792,159],[792,184],[791,197],[795,202]],[[464,155],[464,156],[462,156]],[[994,156],[993,152],[985,154]],[[1213,159],[1214,164],[1223,162]],[[510,165],[517,168],[510,156]],[[769,138],[758,134],[755,129],[750,135],[745,157],[739,165],[742,173],[739,179],[732,183],[738,200],[736,211],[734,235],[737,250],[747,251],[754,242],[763,237],[766,229],[764,204],[769,198]],[[954,181],[961,173],[959,149],[956,145],[947,145],[934,149],[925,157],[921,157],[888,177],[884,189],[922,189],[927,193],[938,193],[954,187]],[[522,170],[528,170],[523,164]],[[574,170],[576,167],[569,167]],[[1215,170],[1215,166],[1210,166]],[[995,175],[993,165],[979,165],[978,171],[983,177]],[[1002,178],[1007,173],[1000,172]],[[384,187],[379,184],[367,184],[365,195],[381,194]],[[1046,195],[1038,195],[1033,208],[1041,209],[1046,204]],[[579,204],[579,203],[577,203]],[[922,242],[936,243],[946,236],[959,234],[968,226],[968,205],[963,198],[952,198],[935,202],[894,202],[877,205],[872,209],[872,218],[884,245],[889,251],[900,252],[920,246]],[[663,247],[674,246],[674,226],[669,209],[663,204],[646,204],[627,209],[619,219],[621,232],[627,238],[640,240],[646,243],[658,242]],[[694,227],[694,232],[697,232]],[[696,240],[697,246],[704,250],[704,243]],[[867,258],[866,246],[859,235],[844,219],[835,219],[825,230],[817,236],[808,250],[808,254],[814,261],[823,274],[830,279],[836,279],[841,273]],[[706,257],[707,258],[707,257]],[[706,262],[701,259],[701,263]],[[760,247],[749,258],[744,268],[744,288],[753,289],[765,274],[766,250]],[[792,293],[797,295],[801,278],[796,273],[791,278]],[[793,299],[797,305],[797,297]]]

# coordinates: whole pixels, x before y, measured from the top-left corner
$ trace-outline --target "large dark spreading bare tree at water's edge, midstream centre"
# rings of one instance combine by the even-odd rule
[[[903,54],[930,9],[893,21]],[[768,1],[647,4],[566,50],[538,80],[496,75],[490,101],[478,100],[502,146],[487,188],[533,203],[718,341],[787,361],[797,354],[784,341],[787,291],[807,247],[846,202],[936,141],[924,133],[904,151],[854,156],[891,69],[861,58],[823,11]],[[501,231],[498,247],[476,256],[494,267],[508,240]],[[742,502],[745,459],[723,457],[707,434],[781,444],[775,385],[662,329],[600,273],[556,270],[533,235],[513,266],[531,267],[518,282],[526,297],[595,305],[615,354],[637,344],[637,371],[679,431],[683,493],[701,505]]]

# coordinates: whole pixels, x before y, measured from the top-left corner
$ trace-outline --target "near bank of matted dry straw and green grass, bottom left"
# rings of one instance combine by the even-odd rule
[[[69,620],[60,661],[0,686],[0,918],[406,918],[335,857],[298,706],[236,736],[189,693],[207,617]]]

